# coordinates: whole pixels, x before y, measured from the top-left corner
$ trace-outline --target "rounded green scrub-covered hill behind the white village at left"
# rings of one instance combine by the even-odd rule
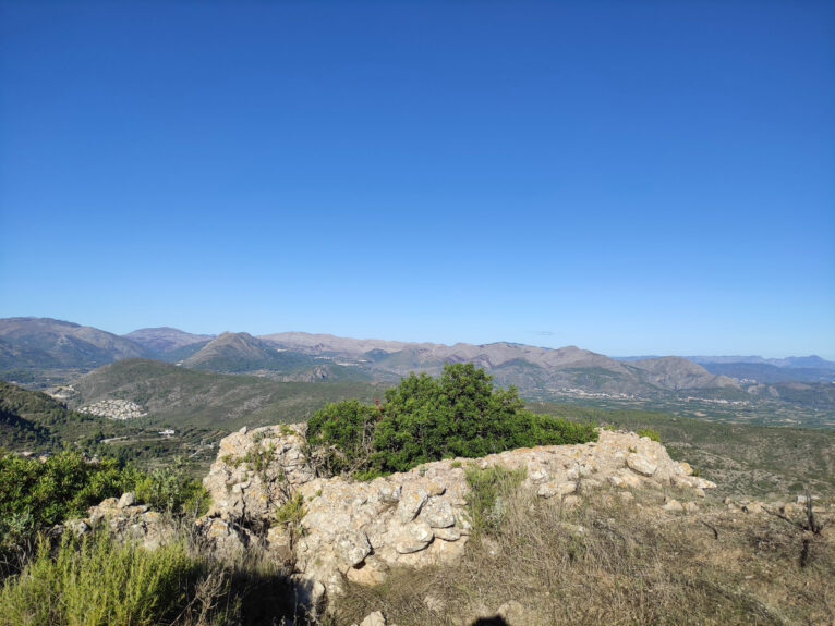
[[[149,360],[128,359],[75,381],[74,406],[106,398],[134,402],[144,418],[169,426],[223,430],[306,419],[327,402],[354,395],[371,400],[382,388],[367,382],[279,382],[261,377],[198,371]]]

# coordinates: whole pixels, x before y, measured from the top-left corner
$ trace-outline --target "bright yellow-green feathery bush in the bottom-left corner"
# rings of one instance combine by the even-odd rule
[[[199,565],[181,543],[145,551],[106,533],[76,541],[66,533],[55,555],[36,556],[0,590],[0,624],[145,626],[169,623],[185,604]]]

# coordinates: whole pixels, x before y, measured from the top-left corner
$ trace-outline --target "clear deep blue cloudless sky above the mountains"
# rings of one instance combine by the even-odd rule
[[[0,317],[835,358],[835,3],[0,11]]]

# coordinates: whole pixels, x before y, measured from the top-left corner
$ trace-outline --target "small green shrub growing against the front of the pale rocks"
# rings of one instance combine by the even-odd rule
[[[516,491],[524,477],[524,469],[507,469],[500,465],[486,469],[464,469],[464,478],[470,487],[467,512],[475,533],[492,532],[499,528],[504,513],[499,496]]]

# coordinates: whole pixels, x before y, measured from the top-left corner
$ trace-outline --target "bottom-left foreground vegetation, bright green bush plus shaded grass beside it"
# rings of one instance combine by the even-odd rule
[[[183,525],[156,550],[105,530],[41,541],[0,588],[0,626],[306,624],[289,573],[262,554],[218,561]]]

